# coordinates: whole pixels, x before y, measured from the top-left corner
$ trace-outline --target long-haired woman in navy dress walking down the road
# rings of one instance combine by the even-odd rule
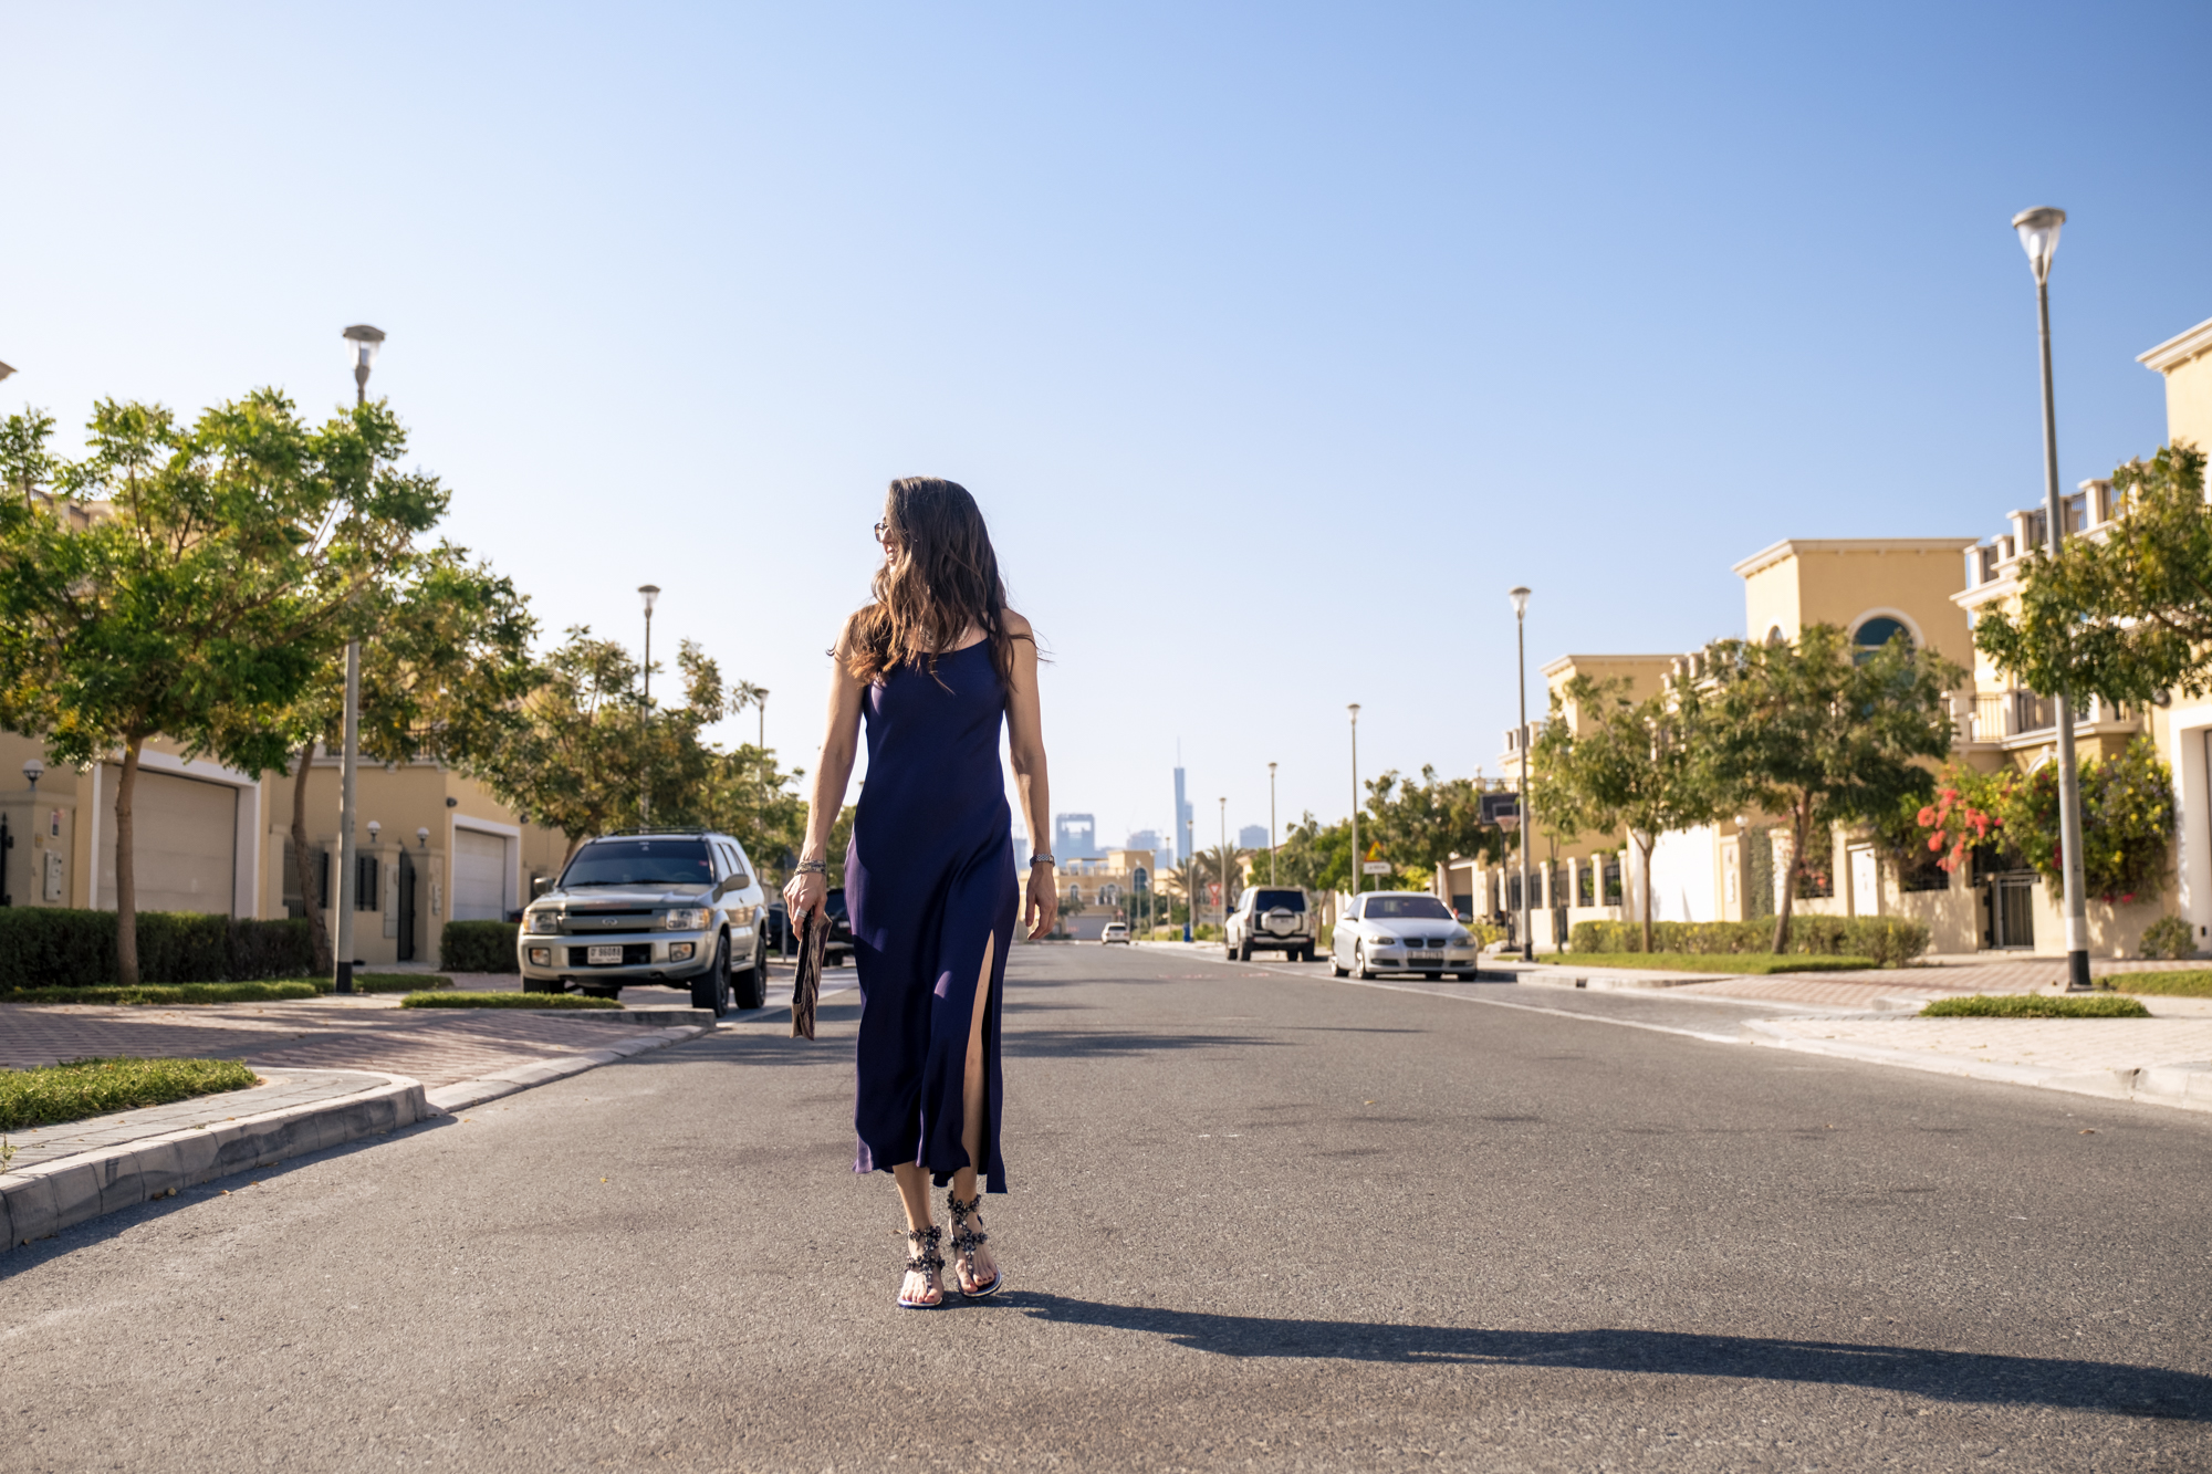
[[[945,1304],[942,1231],[929,1182],[949,1188],[953,1275],[995,1295],[1004,1270],[984,1248],[982,1173],[1006,1191],[998,1151],[998,1034],[1013,941],[1013,823],[998,766],[1000,719],[1029,823],[1029,936],[1053,927],[1060,896],[1037,719],[1037,642],[1006,609],[991,533],[967,489],[894,480],[876,522],[874,602],[845,620],[830,684],[830,733],[807,808],[807,843],[783,887],[790,916],[821,914],[830,826],[845,801],[863,717],[867,781],[845,852],[845,903],[860,969],[854,1171],[887,1171],[907,1211],[898,1304]]]

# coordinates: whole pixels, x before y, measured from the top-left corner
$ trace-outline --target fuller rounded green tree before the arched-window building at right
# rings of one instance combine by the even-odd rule
[[[1849,635],[1807,624],[1796,644],[1717,640],[1710,675],[1677,684],[1683,713],[1699,708],[1714,812],[1759,806],[1790,819],[1790,870],[1776,876],[1774,952],[1790,943],[1790,912],[1814,839],[1838,823],[1880,823],[1936,781],[1927,759],[1951,750],[1944,693],[1964,671],[1902,635],[1854,660]],[[1690,823],[1697,823],[1694,819]],[[1672,828],[1672,826],[1670,826]],[[1650,852],[1646,848],[1646,890]],[[1646,901],[1646,947],[1650,945]]]

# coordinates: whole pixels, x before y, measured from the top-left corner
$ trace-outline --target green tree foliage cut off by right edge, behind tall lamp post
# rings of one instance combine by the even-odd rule
[[[2212,511],[2188,440],[2112,471],[2119,516],[2095,538],[2026,560],[2020,609],[1975,620],[1973,642],[2037,695],[2152,702],[2212,693]]]

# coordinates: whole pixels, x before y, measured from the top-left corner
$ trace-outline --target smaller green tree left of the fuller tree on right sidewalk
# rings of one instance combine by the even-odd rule
[[[1668,830],[1717,819],[1721,795],[1708,764],[1701,693],[1677,686],[1641,702],[1628,693],[1626,677],[1599,682],[1588,675],[1553,693],[1551,719],[1535,739],[1531,808],[1562,834],[1628,834],[1644,861],[1644,949],[1650,952],[1652,845]],[[1579,733],[1568,726],[1564,702],[1575,704]]]

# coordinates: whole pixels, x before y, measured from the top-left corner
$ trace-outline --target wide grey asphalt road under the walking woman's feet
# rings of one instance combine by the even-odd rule
[[[0,1467],[2212,1467],[2212,1118],[1455,992],[1018,949],[933,1312],[854,994],[95,1219],[0,1259]]]

